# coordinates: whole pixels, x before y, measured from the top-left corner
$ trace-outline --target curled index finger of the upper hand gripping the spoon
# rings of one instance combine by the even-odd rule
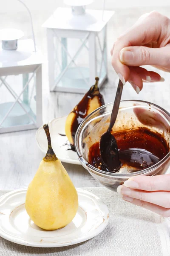
[[[139,18],[139,20],[120,36],[114,44],[112,54],[112,66],[118,75],[121,75],[125,81],[129,79],[130,70],[125,64],[122,64],[119,60],[120,51],[129,46],[141,46],[153,41],[157,41],[161,34],[161,22],[160,18],[163,15],[151,12]],[[120,77],[120,76],[119,76]]]

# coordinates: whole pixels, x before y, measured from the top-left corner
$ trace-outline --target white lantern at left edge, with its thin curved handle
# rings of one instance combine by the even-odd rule
[[[31,18],[31,13],[22,0]],[[0,133],[35,129],[42,125],[42,62],[33,40],[18,40],[17,29],[0,31]]]

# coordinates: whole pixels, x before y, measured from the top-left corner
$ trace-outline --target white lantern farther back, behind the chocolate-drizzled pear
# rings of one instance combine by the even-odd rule
[[[107,23],[113,11],[85,10],[91,0],[65,0],[42,27],[47,29],[51,91],[85,93],[99,76],[107,79]]]

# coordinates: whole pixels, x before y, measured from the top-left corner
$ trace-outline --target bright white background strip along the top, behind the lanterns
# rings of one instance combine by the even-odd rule
[[[58,6],[64,6],[62,0],[25,0],[32,10],[51,11]],[[89,7],[102,9],[103,0],[94,0]],[[170,0],[105,0],[106,9],[143,7],[143,6],[170,6]],[[17,0],[0,0],[0,12],[22,11],[23,6]]]

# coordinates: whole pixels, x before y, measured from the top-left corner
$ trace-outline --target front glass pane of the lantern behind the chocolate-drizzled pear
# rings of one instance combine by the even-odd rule
[[[79,38],[54,37],[54,77],[58,88],[89,88],[88,42]],[[74,91],[75,92],[75,91]]]

